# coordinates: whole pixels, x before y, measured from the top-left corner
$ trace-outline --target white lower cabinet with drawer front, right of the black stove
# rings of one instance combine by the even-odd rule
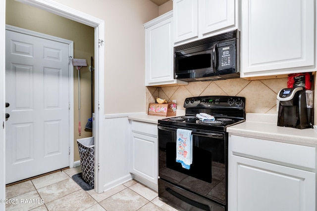
[[[228,211],[316,211],[316,148],[229,134]]]

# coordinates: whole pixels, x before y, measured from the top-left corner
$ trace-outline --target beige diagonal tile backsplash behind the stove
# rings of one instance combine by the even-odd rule
[[[154,87],[147,86],[146,108],[155,103],[156,97],[168,102],[176,100],[177,109],[185,110],[185,98],[207,95],[242,96],[246,98],[247,113],[277,114],[277,93],[287,87],[287,78],[249,81],[229,79],[210,82],[190,82],[188,85]]]

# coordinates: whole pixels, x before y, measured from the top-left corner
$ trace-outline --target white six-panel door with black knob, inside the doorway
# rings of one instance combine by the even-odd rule
[[[6,183],[69,166],[68,44],[6,30]]]

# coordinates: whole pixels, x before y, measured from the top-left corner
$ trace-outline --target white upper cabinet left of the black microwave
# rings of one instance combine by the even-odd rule
[[[188,84],[174,79],[173,12],[144,24],[145,85]]]

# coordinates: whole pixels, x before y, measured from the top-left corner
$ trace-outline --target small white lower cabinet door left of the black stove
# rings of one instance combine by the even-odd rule
[[[158,184],[158,139],[132,132],[131,172]]]

